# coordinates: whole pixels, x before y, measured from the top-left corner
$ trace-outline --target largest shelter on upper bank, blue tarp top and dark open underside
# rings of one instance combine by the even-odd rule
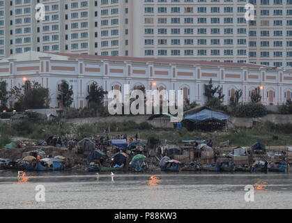
[[[183,125],[188,130],[223,130],[229,115],[209,107],[195,107],[185,112]]]

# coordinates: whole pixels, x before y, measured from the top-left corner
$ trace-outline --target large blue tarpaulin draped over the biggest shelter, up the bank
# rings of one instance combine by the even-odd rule
[[[227,121],[229,115],[222,112],[216,112],[210,109],[202,109],[199,112],[186,114],[183,120],[192,122],[203,122],[203,121]]]

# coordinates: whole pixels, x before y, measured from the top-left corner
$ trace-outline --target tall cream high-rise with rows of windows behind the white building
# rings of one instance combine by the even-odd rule
[[[0,1],[0,57],[29,50],[291,66],[292,0]]]

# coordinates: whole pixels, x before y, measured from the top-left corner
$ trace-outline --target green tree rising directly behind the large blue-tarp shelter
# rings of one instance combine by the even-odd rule
[[[214,86],[212,79],[210,79],[208,84],[204,84],[204,89],[204,95],[207,98],[206,106],[214,108],[220,107],[225,97],[222,86]]]

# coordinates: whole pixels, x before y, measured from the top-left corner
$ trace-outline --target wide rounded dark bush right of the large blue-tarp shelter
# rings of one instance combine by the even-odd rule
[[[249,102],[247,104],[240,104],[233,109],[232,115],[244,118],[259,118],[266,116],[268,110],[260,103]]]

